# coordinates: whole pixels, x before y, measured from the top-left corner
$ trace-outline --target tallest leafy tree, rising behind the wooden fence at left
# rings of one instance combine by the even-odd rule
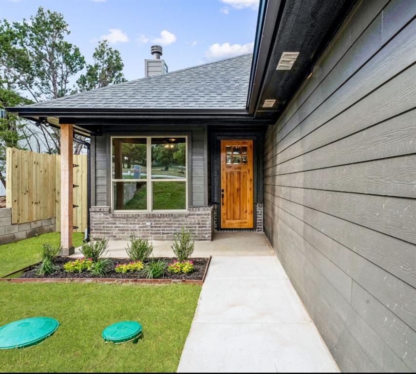
[[[34,102],[70,93],[69,80],[83,69],[79,49],[64,40],[69,26],[63,15],[38,8],[30,21],[0,21],[0,88],[29,95]],[[49,153],[60,151],[57,129],[39,125],[34,136]]]

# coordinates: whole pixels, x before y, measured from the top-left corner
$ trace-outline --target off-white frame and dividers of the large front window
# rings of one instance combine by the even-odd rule
[[[146,139],[146,179],[115,179],[113,178],[113,139]],[[152,178],[151,177],[151,139],[154,138],[184,138],[185,139],[185,180],[184,178]],[[113,182],[144,182],[147,187],[147,209],[114,209],[114,186]],[[153,209],[153,182],[185,182],[185,209]],[[188,210],[188,135],[165,134],[165,135],[116,135],[110,137],[110,191],[111,191],[111,210],[114,213],[174,213],[186,212]]]

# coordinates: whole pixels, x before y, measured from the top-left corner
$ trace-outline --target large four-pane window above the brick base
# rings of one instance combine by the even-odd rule
[[[113,210],[187,208],[187,138],[112,137]]]

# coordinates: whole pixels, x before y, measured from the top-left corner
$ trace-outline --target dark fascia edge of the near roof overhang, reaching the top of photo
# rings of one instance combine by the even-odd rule
[[[261,0],[257,18],[256,39],[253,48],[253,63],[247,96],[247,112],[253,114],[257,108],[259,91],[263,83],[265,69],[279,29],[285,0]]]

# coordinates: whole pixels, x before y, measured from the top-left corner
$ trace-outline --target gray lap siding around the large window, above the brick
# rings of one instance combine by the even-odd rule
[[[159,131],[155,131],[154,127],[149,127],[147,130],[143,126],[140,131],[132,131],[131,126],[109,128],[102,136],[95,136],[95,152],[92,156],[95,163],[95,170],[92,172],[92,178],[95,175],[95,190],[94,182],[92,183],[92,200],[95,206],[111,206],[111,183],[110,183],[110,136],[111,135],[163,135],[170,134],[188,134],[190,143],[188,144],[188,200],[189,206],[208,206],[208,183],[207,183],[207,142],[204,142],[207,129],[203,126],[194,127],[163,127]],[[111,134],[111,135],[110,135]],[[92,150],[93,152],[93,150]]]

